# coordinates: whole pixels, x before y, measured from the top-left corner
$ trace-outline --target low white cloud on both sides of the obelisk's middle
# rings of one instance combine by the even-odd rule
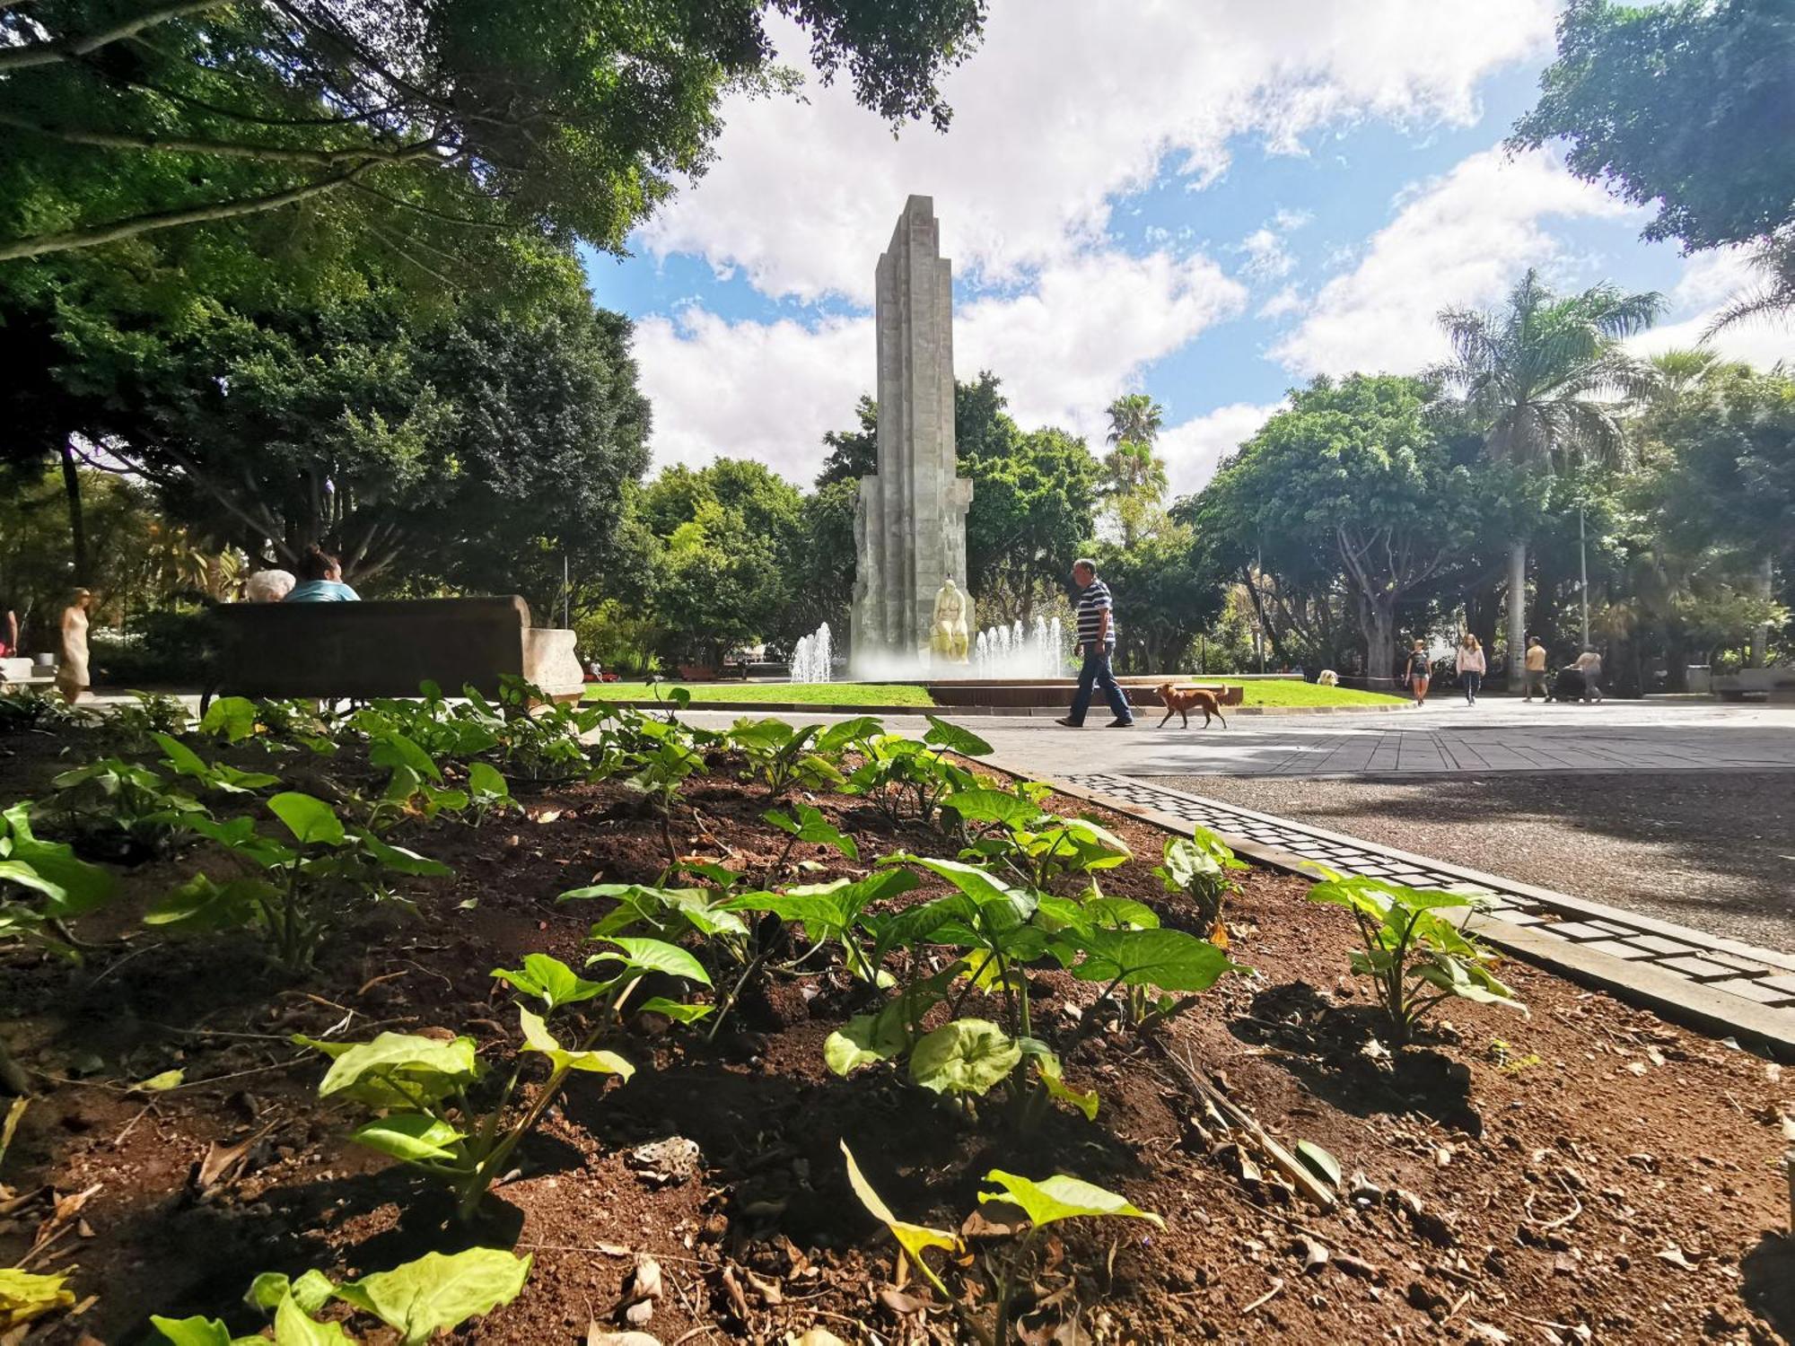
[[[1206,257],[1091,253],[1046,267],[1025,294],[962,307],[955,373],[998,373],[1025,429],[1095,436],[1143,366],[1244,303],[1244,287]],[[878,382],[871,318],[732,323],[686,307],[637,323],[635,359],[657,465],[757,458],[799,483],[822,463],[824,431],[851,427],[856,398]]]

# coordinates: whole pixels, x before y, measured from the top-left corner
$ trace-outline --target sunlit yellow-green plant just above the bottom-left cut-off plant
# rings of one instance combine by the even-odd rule
[[[578,976],[549,955],[530,955],[521,969],[495,969],[519,996],[540,1001],[537,1014],[517,1005],[522,1048],[501,1088],[483,1088],[490,1070],[472,1037],[438,1041],[416,1034],[381,1034],[372,1043],[325,1043],[294,1037],[294,1043],[330,1057],[330,1070],[318,1086],[320,1098],[346,1098],[377,1111],[350,1140],[388,1154],[449,1183],[458,1197],[458,1215],[474,1215],[492,1181],[517,1145],[528,1136],[574,1071],[621,1075],[635,1068],[616,1052],[598,1050],[601,1034],[614,1028],[623,1001],[648,971],[702,978],[691,955],[659,940],[612,940],[607,962],[621,964],[601,982]],[[659,948],[650,948],[659,946]],[[569,1005],[601,1000],[605,1014],[578,1046],[564,1046],[549,1032],[547,1018]],[[549,1075],[531,1102],[517,1107],[524,1066],[531,1057],[549,1062]]]

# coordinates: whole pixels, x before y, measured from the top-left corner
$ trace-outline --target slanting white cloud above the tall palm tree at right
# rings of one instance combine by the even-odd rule
[[[1563,253],[1549,219],[1624,219],[1632,208],[1542,153],[1486,149],[1405,190],[1352,271],[1316,294],[1309,316],[1271,348],[1296,373],[1407,373],[1447,355],[1438,314],[1490,305],[1529,266]]]

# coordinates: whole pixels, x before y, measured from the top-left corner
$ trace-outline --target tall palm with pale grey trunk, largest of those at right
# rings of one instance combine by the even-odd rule
[[[1553,294],[1531,267],[1501,312],[1445,309],[1440,325],[1452,361],[1432,373],[1461,389],[1484,427],[1495,461],[1551,476],[1580,459],[1621,461],[1626,400],[1644,397],[1657,375],[1621,350],[1664,310],[1657,291],[1626,294],[1596,285]],[[1508,547],[1508,660],[1519,671],[1526,648],[1528,538]]]

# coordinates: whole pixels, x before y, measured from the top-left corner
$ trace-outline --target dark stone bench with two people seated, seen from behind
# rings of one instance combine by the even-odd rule
[[[585,687],[574,634],[530,625],[522,598],[420,598],[375,603],[230,603],[210,614],[212,671],[205,700],[416,696],[434,682],[449,696],[499,691],[504,675],[555,700]],[[196,651],[197,653],[197,651]]]

